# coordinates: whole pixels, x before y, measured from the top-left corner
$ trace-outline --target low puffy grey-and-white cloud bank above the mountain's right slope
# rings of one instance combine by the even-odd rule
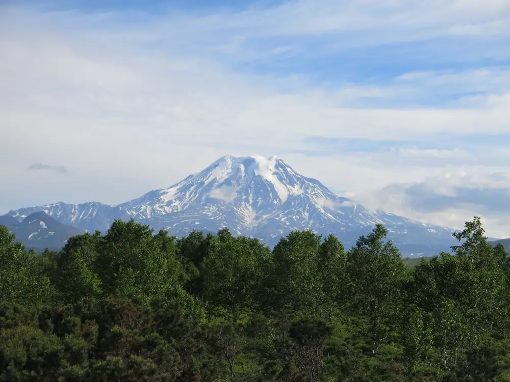
[[[355,196],[379,208],[431,224],[462,229],[482,216],[486,234],[510,237],[510,172],[445,172],[422,181],[390,184]]]

